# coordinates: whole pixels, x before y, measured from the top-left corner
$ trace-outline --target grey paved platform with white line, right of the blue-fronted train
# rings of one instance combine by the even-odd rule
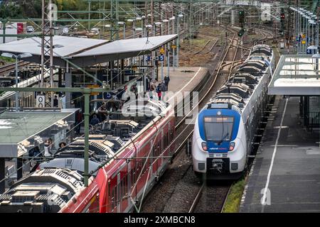
[[[304,127],[299,101],[276,96],[240,212],[320,212],[319,128]]]

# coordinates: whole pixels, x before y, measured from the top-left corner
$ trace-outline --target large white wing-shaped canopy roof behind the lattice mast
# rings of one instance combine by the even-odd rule
[[[53,37],[54,65],[65,67],[66,60],[78,67],[96,65],[112,60],[145,55],[174,40],[177,35],[160,35],[149,38],[125,40],[98,40],[55,35]],[[0,52],[19,54],[28,52],[33,57],[23,58],[29,62],[41,63],[41,38],[25,38],[0,45]],[[70,67],[73,65],[71,64]]]

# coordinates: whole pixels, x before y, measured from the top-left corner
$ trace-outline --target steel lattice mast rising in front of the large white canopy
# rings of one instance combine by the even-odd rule
[[[52,0],[48,0],[48,4],[46,0],[42,0],[41,87],[44,87],[44,75],[49,74],[50,87],[53,88],[53,20],[56,10],[54,6]],[[53,107],[53,92],[51,92],[50,105]]]

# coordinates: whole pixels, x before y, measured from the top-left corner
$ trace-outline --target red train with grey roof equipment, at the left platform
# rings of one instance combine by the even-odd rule
[[[88,187],[82,176],[84,139],[76,138],[53,160],[42,162],[39,170],[1,194],[0,212],[117,213],[138,209],[171,161],[175,117],[169,104],[154,100],[130,106],[128,111],[136,116],[119,114],[90,131]]]

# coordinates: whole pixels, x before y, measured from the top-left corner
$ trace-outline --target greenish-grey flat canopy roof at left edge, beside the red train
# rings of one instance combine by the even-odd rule
[[[3,112],[0,114],[0,157],[17,157],[33,148],[36,135],[52,135],[65,121],[74,121],[78,109]],[[22,149],[26,148],[26,149]]]

